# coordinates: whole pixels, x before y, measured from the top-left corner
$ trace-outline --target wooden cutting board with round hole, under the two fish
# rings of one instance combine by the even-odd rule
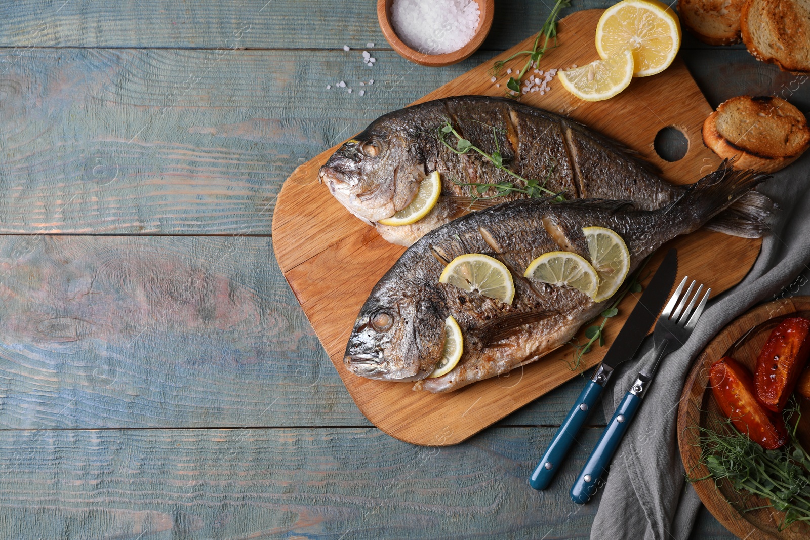
[[[601,13],[578,11],[562,19],[558,46],[545,55],[539,69],[582,66],[597,59],[594,37]],[[527,39],[496,59],[531,49],[532,41]],[[500,88],[490,82],[488,70],[494,60],[416,103],[463,94],[501,96],[507,79],[499,79]],[[520,66],[520,60],[509,64],[513,70]],[[633,79],[619,96],[599,103],[574,98],[556,79],[549,85],[551,91],[545,96],[529,93],[521,101],[573,117],[623,142],[658,166],[668,181],[692,183],[720,163],[701,142],[701,125],[711,108],[680,58],[662,74]],[[689,151],[673,163],[660,159],[653,148],[655,135],[667,126],[675,126],[689,139]],[[348,372],[343,367],[343,351],[360,306],[404,248],[382,240],[373,227],[349,214],[326,185],[318,183],[318,168],[336,148],[296,168],[284,183],[273,215],[273,247],[284,276],[343,383],[377,427],[413,444],[456,444],[599,363],[633,309],[636,296],[625,297],[620,314],[606,326],[606,347],[586,354],[579,370],[569,368],[573,349],[565,346],[505,376],[445,394],[415,392],[409,383],[372,381]],[[679,275],[689,274],[706,283],[716,295],[743,279],[757,258],[761,240],[701,230],[670,244],[680,252]],[[648,268],[657,268],[661,257],[654,257]],[[582,332],[579,337],[582,340]]]

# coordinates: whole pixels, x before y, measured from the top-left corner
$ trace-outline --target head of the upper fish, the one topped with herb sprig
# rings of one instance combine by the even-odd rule
[[[425,177],[416,152],[407,132],[375,122],[344,142],[318,176],[347,210],[371,224],[413,201]]]

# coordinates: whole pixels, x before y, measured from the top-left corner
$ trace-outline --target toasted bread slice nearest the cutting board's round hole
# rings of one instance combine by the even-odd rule
[[[703,142],[735,167],[774,172],[810,147],[804,114],[774,96],[738,96],[720,104],[703,123]]]

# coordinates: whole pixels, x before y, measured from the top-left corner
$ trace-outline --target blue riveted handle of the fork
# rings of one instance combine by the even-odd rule
[[[596,444],[596,448],[590,453],[588,461],[582,467],[582,471],[577,477],[577,481],[571,487],[571,500],[578,504],[585,504],[590,497],[596,494],[603,474],[608,472],[608,467],[613,459],[613,454],[619,448],[621,438],[636,415],[638,406],[641,405],[642,398],[634,393],[626,393],[625,398],[613,413],[608,427],[602,432],[602,438]],[[587,479],[586,479],[587,478]]]

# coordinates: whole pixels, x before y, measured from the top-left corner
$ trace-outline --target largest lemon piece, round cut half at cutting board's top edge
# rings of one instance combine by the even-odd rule
[[[680,22],[658,0],[622,0],[608,7],[596,25],[596,50],[602,58],[633,51],[633,77],[666,70],[680,48]]]

